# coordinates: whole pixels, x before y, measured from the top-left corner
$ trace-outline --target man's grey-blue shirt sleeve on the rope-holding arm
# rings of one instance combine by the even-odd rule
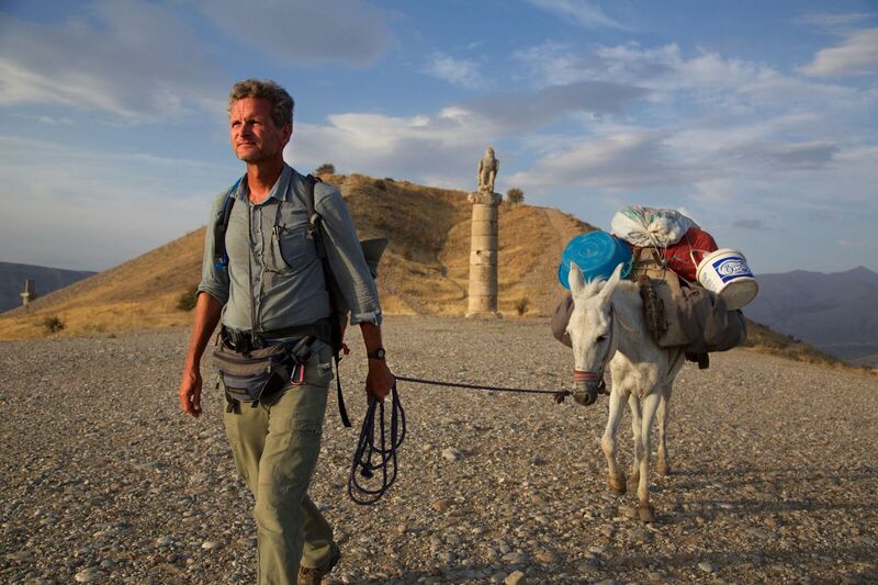
[[[381,325],[378,286],[369,271],[369,265],[365,263],[353,220],[341,193],[329,185],[317,183],[314,199],[315,209],[323,217],[324,232],[329,240],[326,257],[350,310],[350,324],[365,322]]]

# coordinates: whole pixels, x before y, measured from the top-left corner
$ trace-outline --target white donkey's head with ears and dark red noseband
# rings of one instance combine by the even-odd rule
[[[616,267],[610,279],[585,282],[582,270],[570,266],[570,290],[573,293],[573,314],[567,323],[567,334],[573,344],[576,383],[574,400],[589,405],[597,400],[604,379],[604,368],[616,352],[612,335],[612,294],[621,279],[622,265]]]

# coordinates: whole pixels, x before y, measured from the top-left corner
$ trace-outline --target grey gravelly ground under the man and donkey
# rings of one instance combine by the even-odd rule
[[[0,345],[1,582],[254,581],[252,502],[222,398],[211,385],[201,419],[178,410],[187,336]],[[385,340],[405,375],[570,385],[572,355],[544,323],[396,317]],[[342,380],[358,427],[354,341]],[[331,583],[878,581],[875,376],[744,350],[688,364],[650,525],[607,487],[606,397],[401,391],[399,479],[374,507],[346,495],[357,430],[330,402],[312,493],[344,552]]]

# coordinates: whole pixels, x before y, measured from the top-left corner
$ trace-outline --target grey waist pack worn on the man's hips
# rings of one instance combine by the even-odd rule
[[[256,404],[290,384],[301,384],[316,339],[308,336],[295,344],[275,344],[240,353],[221,336],[213,359],[229,407],[232,401]]]

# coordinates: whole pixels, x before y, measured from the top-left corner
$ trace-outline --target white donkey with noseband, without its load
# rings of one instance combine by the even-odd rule
[[[650,504],[650,431],[657,413],[657,471],[664,475],[669,471],[665,429],[671,387],[685,355],[682,349],[663,349],[655,345],[644,323],[640,289],[634,282],[620,280],[621,270],[622,265],[619,265],[607,282],[586,283],[579,267],[571,265],[574,310],[567,333],[573,342],[574,380],[579,402],[590,404],[597,398],[604,369],[607,363],[610,365],[610,413],[600,439],[609,468],[609,484],[619,494],[637,485],[640,519],[651,522],[655,520],[655,509]],[[626,400],[631,408],[634,432],[634,462],[628,484],[616,462],[616,431]]]

